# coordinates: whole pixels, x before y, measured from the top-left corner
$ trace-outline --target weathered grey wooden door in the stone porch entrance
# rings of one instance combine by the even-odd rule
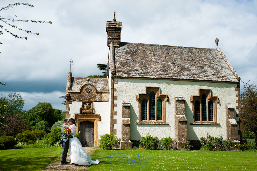
[[[94,123],[84,121],[79,123],[80,142],[82,146],[94,146]]]

